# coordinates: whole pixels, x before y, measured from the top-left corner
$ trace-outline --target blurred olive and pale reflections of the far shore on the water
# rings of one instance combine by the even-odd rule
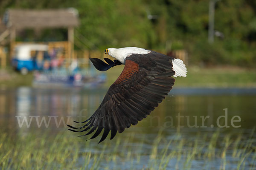
[[[105,92],[106,90],[36,88],[2,90],[0,91],[0,126],[7,131],[15,127],[18,135],[34,133],[35,130],[40,133],[41,129],[47,127],[50,129],[49,135],[61,130],[71,133],[65,129],[65,124],[73,124],[72,120],[81,121],[93,114]],[[140,134],[134,135],[134,145],[136,141],[140,141],[141,136],[144,136],[146,142],[143,148],[147,155],[150,154],[147,150],[149,148],[151,150],[151,141],[156,138],[161,128],[166,139],[172,139],[177,129],[187,139],[191,139],[198,131],[211,136],[218,126],[222,127],[220,128],[222,137],[228,132],[234,134],[241,130],[244,134],[251,132],[256,122],[255,94],[214,95],[212,90],[210,95],[206,94],[207,91],[204,91],[204,95],[191,94],[191,91],[186,95],[184,91],[182,93],[179,93],[179,90],[174,91],[151,115],[119,136],[125,140],[125,137],[131,134]],[[24,117],[27,122],[24,121]],[[21,122],[23,122],[22,126]],[[41,123],[40,128],[38,123]],[[253,138],[256,139],[255,134]],[[96,143],[99,139],[93,140]],[[97,152],[97,148],[100,149],[96,147],[94,151]]]

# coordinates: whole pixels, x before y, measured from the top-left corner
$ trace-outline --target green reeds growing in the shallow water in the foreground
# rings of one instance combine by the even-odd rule
[[[232,164],[239,169],[253,170],[256,167],[255,142],[250,136],[227,133],[223,138],[219,130],[207,136],[198,133],[188,139],[177,131],[171,139],[166,139],[160,130],[158,136],[148,143],[145,138],[134,141],[131,133],[125,139],[120,136],[95,145],[92,140],[58,133],[49,134],[0,133],[1,169],[142,169],[164,170],[172,166],[189,170],[193,166],[203,169],[224,170]],[[134,143],[134,144],[131,144]],[[148,153],[143,144],[147,144]],[[100,152],[98,152],[100,150]],[[193,164],[193,161],[200,162]],[[173,162],[173,164],[172,164]],[[218,162],[218,163],[217,163]],[[123,169],[123,168],[122,168]]]

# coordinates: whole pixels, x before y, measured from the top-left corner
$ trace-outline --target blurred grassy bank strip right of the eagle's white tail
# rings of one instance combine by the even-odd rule
[[[189,67],[186,78],[177,78],[177,87],[256,87],[256,70],[243,68]]]

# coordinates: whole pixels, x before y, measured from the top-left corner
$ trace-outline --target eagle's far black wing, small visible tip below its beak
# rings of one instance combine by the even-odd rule
[[[109,58],[104,58],[104,60],[107,62],[105,63],[104,61],[102,61],[101,59],[98,58],[89,58],[90,61],[93,63],[94,67],[99,70],[99,71],[107,71],[108,69],[110,69],[111,67],[114,67],[116,65],[121,65],[122,63],[119,62],[117,59],[114,59],[114,61],[112,61]]]

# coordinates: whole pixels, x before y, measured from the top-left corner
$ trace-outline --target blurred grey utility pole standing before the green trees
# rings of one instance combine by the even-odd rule
[[[210,44],[214,42],[214,13],[215,3],[219,0],[209,0],[209,25],[208,25],[208,41]]]

